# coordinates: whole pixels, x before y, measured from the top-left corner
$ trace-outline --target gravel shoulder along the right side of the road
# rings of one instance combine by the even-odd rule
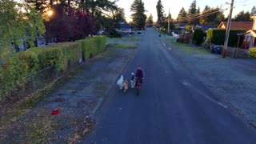
[[[222,58],[202,47],[177,46],[170,38],[163,41],[218,101],[256,126],[256,59]]]

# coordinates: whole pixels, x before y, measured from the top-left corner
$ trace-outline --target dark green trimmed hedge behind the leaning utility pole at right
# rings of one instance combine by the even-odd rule
[[[232,29],[230,30],[228,46],[237,46],[239,33],[245,33],[243,29]],[[207,30],[206,42],[211,42],[214,45],[224,45],[226,36],[225,29],[209,29]],[[242,41],[242,40],[240,40]]]

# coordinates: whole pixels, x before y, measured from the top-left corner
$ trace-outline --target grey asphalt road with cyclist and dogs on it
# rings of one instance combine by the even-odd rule
[[[117,86],[98,110],[95,130],[81,143],[256,143],[255,130],[216,101],[168,48],[156,31],[146,30],[124,73],[130,78],[142,65],[141,95]]]

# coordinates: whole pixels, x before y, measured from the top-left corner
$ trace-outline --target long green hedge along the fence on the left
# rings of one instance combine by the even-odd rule
[[[54,64],[58,68],[57,72],[62,73],[68,70],[68,63],[79,62],[82,51],[96,55],[103,50],[106,50],[106,37],[94,37],[14,54],[0,66],[0,102],[10,97],[17,87],[26,85],[27,75]]]

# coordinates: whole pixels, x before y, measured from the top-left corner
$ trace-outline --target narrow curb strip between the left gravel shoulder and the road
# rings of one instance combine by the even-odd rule
[[[126,66],[124,66],[124,67],[122,68],[120,74],[122,74],[123,71],[126,70],[126,68],[127,68],[128,64],[130,63],[130,61],[135,57],[135,54],[137,53],[137,50],[138,50],[138,48],[137,48],[137,49],[134,49],[134,52],[133,52],[134,55],[128,59],[128,62],[126,62]],[[118,79],[120,74],[118,74],[117,78],[115,78],[115,79]],[[94,118],[96,112],[97,112],[97,111],[99,110],[99,108],[102,106],[103,102],[105,102],[106,98],[109,98],[111,90],[114,90],[114,86],[115,86],[114,84],[115,84],[115,81],[114,81],[114,83],[111,84],[112,86],[110,86],[110,89],[107,90],[107,92],[106,92],[106,94],[105,94],[105,95],[106,95],[105,97],[98,99],[97,105],[94,107],[93,112],[90,114],[90,117],[91,117],[91,118]]]

